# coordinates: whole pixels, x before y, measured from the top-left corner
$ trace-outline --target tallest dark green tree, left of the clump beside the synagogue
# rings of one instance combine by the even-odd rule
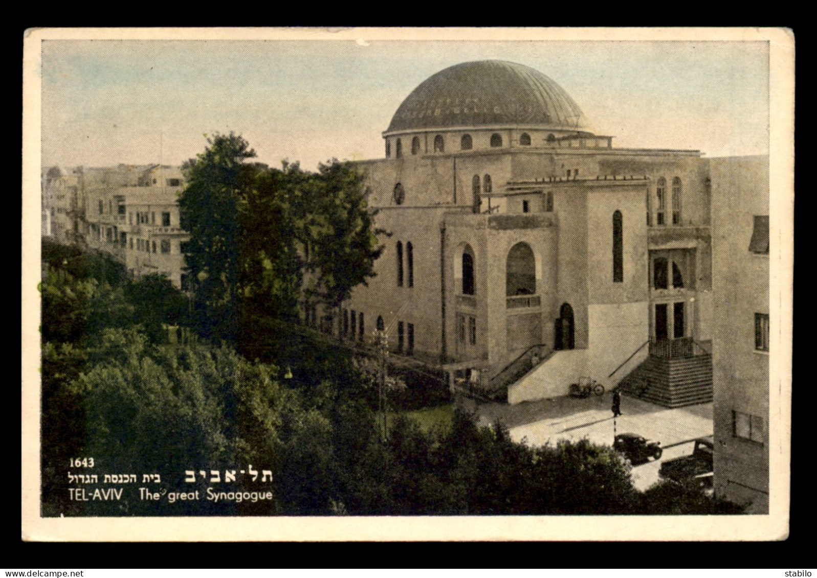
[[[185,261],[194,294],[194,324],[215,343],[232,341],[239,307],[239,198],[256,168],[256,156],[233,133],[208,138],[209,146],[185,168],[179,198],[181,227],[190,233]],[[248,176],[248,171],[250,176]]]

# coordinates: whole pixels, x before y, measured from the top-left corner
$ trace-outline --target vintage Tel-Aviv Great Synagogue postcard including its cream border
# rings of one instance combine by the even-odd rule
[[[784,539],[793,51],[29,30],[25,536]]]

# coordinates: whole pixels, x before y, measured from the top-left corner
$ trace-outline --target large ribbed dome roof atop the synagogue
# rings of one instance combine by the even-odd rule
[[[529,66],[502,60],[455,64],[408,95],[386,132],[449,127],[539,126],[591,131],[565,89]]]

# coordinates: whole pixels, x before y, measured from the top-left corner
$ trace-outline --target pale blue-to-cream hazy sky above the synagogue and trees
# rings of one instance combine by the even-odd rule
[[[767,42],[44,40],[43,166],[181,164],[234,131],[279,166],[382,158],[382,131],[453,64],[555,80],[625,148],[768,153]]]

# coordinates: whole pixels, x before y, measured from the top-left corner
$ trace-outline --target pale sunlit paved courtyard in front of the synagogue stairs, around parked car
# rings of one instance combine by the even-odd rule
[[[480,424],[499,420],[511,432],[511,438],[530,446],[555,444],[560,439],[613,445],[612,393],[590,398],[553,398],[516,405],[463,400],[462,406],[475,411]],[[712,435],[712,403],[667,409],[641,399],[623,395],[622,416],[616,420],[618,433],[638,433],[658,440],[664,448],[661,460],[692,453],[695,438]],[[659,479],[659,461],[632,469],[636,487],[645,490]]]

